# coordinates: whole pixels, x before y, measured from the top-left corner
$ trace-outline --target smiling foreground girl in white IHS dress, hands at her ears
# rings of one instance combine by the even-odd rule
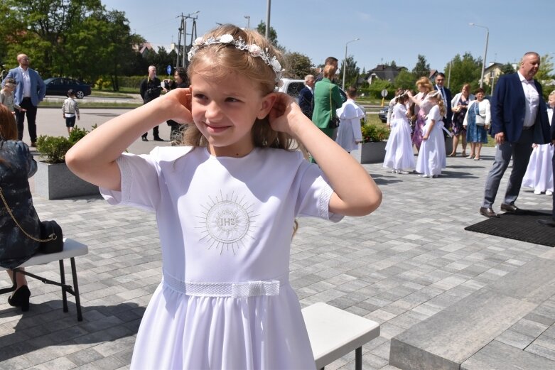
[[[256,30],[220,26],[188,56],[189,88],[99,126],[66,156],[110,203],[156,213],[163,275],[131,369],[315,369],[289,284],[295,219],[369,214],[381,192],[293,98],[274,92],[281,55]],[[193,122],[188,146],[123,153],[168,119]]]

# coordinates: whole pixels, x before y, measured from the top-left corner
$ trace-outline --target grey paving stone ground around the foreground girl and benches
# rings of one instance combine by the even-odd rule
[[[380,323],[381,336],[363,347],[364,369],[397,369],[388,364],[392,337],[549,250],[463,230],[483,220],[478,207],[494,151],[484,148],[480,161],[448,158],[436,179],[365,165],[384,194],[379,210],[338,224],[299,219],[291,284],[303,307],[325,302]],[[506,183],[507,175],[500,194]],[[29,312],[0,301],[0,369],[128,369],[141,316],[161,279],[153,214],[99,197],[34,197],[34,203],[41,219],[56,219],[66,236],[89,246],[76,259],[84,320],[77,322],[72,297],[64,313],[58,288],[30,279]],[[550,210],[551,197],[523,188],[517,205]],[[58,266],[30,271],[56,276]],[[9,284],[5,275],[2,285]],[[541,322],[546,317],[554,320]],[[497,341],[555,359],[554,321],[551,298]],[[354,369],[354,353],[326,369]]]

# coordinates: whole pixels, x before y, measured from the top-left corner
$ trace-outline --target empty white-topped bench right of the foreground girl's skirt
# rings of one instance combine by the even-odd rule
[[[362,370],[362,345],[379,337],[377,322],[321,302],[302,312],[317,369],[355,351],[355,369]]]

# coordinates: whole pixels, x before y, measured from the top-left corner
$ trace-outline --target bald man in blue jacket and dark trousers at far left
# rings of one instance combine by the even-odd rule
[[[8,75],[2,81],[2,87],[9,78],[16,80],[15,103],[21,107],[16,110],[17,120],[17,136],[18,140],[23,140],[23,122],[27,114],[27,125],[29,136],[31,137],[31,146],[36,146],[37,126],[36,116],[38,103],[42,102],[46,93],[46,86],[43,79],[38,75],[36,70],[29,68],[29,57],[25,54],[17,56],[19,67],[8,72]]]

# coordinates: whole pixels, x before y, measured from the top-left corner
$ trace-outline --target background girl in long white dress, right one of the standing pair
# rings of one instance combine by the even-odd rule
[[[441,121],[446,109],[440,92],[431,92],[428,99],[432,107],[426,119],[426,126],[422,129],[422,145],[416,159],[416,172],[421,173],[421,178],[437,178],[441,175],[441,170],[447,166]]]

